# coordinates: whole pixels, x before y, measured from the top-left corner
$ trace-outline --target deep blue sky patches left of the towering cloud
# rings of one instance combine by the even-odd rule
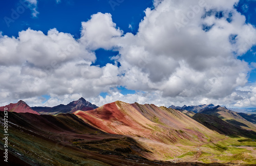
[[[111,13],[113,21],[125,33],[131,32],[136,34],[139,28],[141,19],[145,16],[144,10],[147,7],[153,7],[153,1],[125,1],[125,0],[93,0],[93,1],[72,1],[62,0],[56,1],[38,1],[37,17],[31,16],[31,11],[26,9],[24,13],[18,13],[17,19],[12,19],[13,11],[17,11],[19,6],[22,6],[19,1],[5,1],[1,4],[1,15],[3,18],[0,24],[0,31],[3,35],[18,36],[18,32],[31,28],[33,30],[42,31],[45,34],[49,29],[56,28],[60,32],[70,33],[76,38],[80,37],[81,21],[87,21],[92,14],[102,12]],[[8,17],[14,21],[5,21]],[[130,26],[131,25],[131,26]],[[97,60],[93,65],[104,66],[107,63],[113,63],[110,58],[118,55],[118,52],[111,50],[99,49],[96,50]],[[125,87],[117,87],[122,94],[135,93],[134,90],[126,89]],[[103,97],[106,92],[101,93]],[[42,96],[49,99],[46,94]],[[44,101],[45,103],[46,101]]]

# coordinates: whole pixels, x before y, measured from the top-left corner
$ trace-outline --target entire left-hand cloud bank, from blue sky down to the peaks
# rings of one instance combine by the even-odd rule
[[[53,99],[47,104],[52,105],[73,99],[63,98],[67,95],[96,97],[119,84],[116,65],[92,66],[95,52],[71,34],[56,29],[47,34],[28,29],[16,38],[1,35],[0,59],[0,77],[7,80],[1,82],[2,103],[20,99],[31,102],[49,94]],[[32,104],[42,101],[38,98]]]

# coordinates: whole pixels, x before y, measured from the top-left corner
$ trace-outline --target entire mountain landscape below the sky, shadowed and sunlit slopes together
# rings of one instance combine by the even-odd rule
[[[213,104],[166,108],[116,101],[97,107],[80,98],[55,107],[30,108],[23,101],[5,107],[10,162],[4,165],[256,163],[255,115]]]

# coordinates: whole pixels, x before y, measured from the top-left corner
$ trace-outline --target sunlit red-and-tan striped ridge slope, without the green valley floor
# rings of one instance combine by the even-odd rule
[[[179,111],[153,104],[117,101],[74,114],[104,132],[143,137],[165,144],[194,145],[223,137]]]

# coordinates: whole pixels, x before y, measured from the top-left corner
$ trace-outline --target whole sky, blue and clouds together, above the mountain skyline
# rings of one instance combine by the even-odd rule
[[[197,0],[190,4],[180,2],[2,1],[0,32],[6,38],[2,37],[1,40],[0,36],[0,58],[3,59],[3,62],[0,60],[0,74],[9,78],[10,83],[2,85],[3,94],[0,98],[6,104],[22,99],[32,105],[43,103],[46,106],[65,104],[82,96],[98,105],[125,100],[165,106],[214,103],[229,107],[256,107],[256,99],[253,98],[254,91],[256,93],[256,46],[254,39],[247,42],[248,35],[244,31],[252,25],[248,34],[256,36],[253,34],[256,26],[256,1],[241,0],[238,4],[237,0],[229,1],[231,3],[226,3],[228,0],[218,3],[206,1],[206,5],[211,3],[211,13],[222,13],[223,18],[226,17],[225,13],[232,13],[232,19],[240,20],[238,22],[241,25],[236,27],[233,21],[227,21],[226,29],[219,31],[220,29],[215,28],[218,24],[221,25],[222,17],[216,16],[215,23],[208,25],[211,28],[205,34],[200,29],[195,30],[193,26],[198,23],[199,28],[212,21],[210,14],[203,17],[207,6],[200,9],[202,16],[189,18],[188,24],[183,22],[182,29],[179,30],[181,32],[173,29],[175,22],[185,20],[184,15],[191,12],[191,7],[200,4]],[[175,7],[178,3],[180,5]],[[181,13],[177,14],[178,12]],[[239,15],[245,16],[244,23]],[[231,34],[231,29],[227,28],[230,26],[233,26],[237,34]],[[192,29],[198,32],[198,37],[194,38],[192,31],[190,32]],[[212,38],[215,36],[211,34],[212,30],[217,30],[216,36],[219,35],[219,39]],[[75,42],[77,52],[67,53],[70,43],[59,42],[59,39],[51,35],[61,33],[64,37],[62,39],[69,38],[71,45]],[[223,41],[223,36],[227,33],[236,36],[233,39],[236,42],[233,42],[233,48],[228,52],[228,46],[222,48],[223,45],[230,44]],[[38,38],[33,38],[35,34]],[[11,44],[8,45],[11,40],[12,45],[16,43],[15,49]],[[29,42],[31,43],[27,44]],[[209,44],[202,45],[207,42]],[[221,42],[223,44],[218,45]],[[50,48],[54,44],[57,44],[57,50],[66,50],[67,59],[59,61],[59,52]],[[237,50],[235,44],[238,44]],[[9,52],[5,51],[8,50],[7,46],[12,48]],[[23,48],[22,51],[20,48]],[[206,53],[204,48],[209,52]],[[17,52],[12,53],[12,50]],[[236,57],[238,54],[239,57]],[[231,58],[233,61],[230,56],[234,58]],[[8,57],[13,57],[13,62]],[[55,61],[58,67],[52,67],[49,69],[51,73],[47,73],[46,68],[55,64]],[[234,61],[237,67],[234,66]],[[11,79],[15,73],[19,80],[16,82]],[[83,80],[78,73],[81,73]],[[104,80],[105,78],[108,79]],[[38,79],[42,83],[38,83],[40,86],[35,83]],[[17,88],[18,82],[22,82],[22,88]],[[23,82],[28,83],[23,85]],[[33,88],[29,88],[27,84],[32,84]]]

